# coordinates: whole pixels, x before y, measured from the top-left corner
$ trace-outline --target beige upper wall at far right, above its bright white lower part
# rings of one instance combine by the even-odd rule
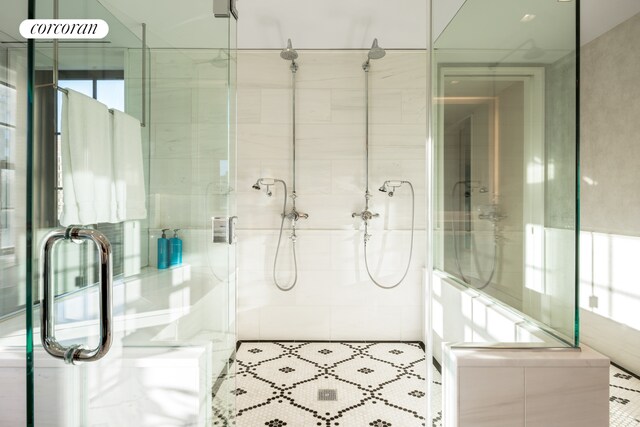
[[[581,54],[583,230],[640,236],[640,15]]]

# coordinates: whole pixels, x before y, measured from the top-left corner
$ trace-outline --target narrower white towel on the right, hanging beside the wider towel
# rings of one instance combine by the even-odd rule
[[[143,219],[147,217],[147,208],[140,121],[122,111],[111,111],[118,220]]]

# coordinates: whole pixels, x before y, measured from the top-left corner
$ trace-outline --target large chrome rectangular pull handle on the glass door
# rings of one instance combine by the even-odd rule
[[[86,349],[82,345],[65,347],[56,340],[55,311],[52,280],[52,253],[56,243],[61,240],[90,240],[100,256],[100,341],[93,349]],[[113,260],[111,243],[98,230],[70,226],[66,230],[54,230],[47,234],[40,250],[40,339],[44,349],[53,357],[64,359],[66,363],[76,361],[93,362],[101,359],[111,348],[112,332],[112,292]]]

